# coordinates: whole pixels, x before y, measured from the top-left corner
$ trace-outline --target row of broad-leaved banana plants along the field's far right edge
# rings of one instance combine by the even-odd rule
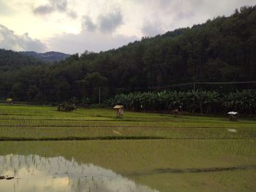
[[[122,104],[135,111],[186,111],[197,113],[219,113],[236,111],[256,114],[256,91],[243,90],[232,93],[216,91],[161,91],[117,94],[108,104]]]

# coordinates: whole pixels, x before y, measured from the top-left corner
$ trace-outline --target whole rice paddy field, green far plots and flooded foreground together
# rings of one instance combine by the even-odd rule
[[[255,180],[255,120],[0,105],[0,191],[256,191]]]

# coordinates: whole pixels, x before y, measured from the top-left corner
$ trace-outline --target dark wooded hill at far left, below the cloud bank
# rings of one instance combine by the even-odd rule
[[[38,66],[40,64],[43,64],[43,62],[37,58],[22,55],[12,50],[0,49],[0,72],[17,70],[23,66]]]

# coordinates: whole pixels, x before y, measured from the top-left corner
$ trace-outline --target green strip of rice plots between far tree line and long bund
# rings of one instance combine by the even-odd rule
[[[228,131],[235,128],[236,132]],[[37,139],[242,139],[256,137],[256,122],[115,110],[0,105],[1,140]]]

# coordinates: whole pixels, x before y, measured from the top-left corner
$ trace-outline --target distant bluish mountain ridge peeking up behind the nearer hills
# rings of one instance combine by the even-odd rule
[[[46,53],[37,53],[34,51],[20,51],[18,53],[21,53],[29,57],[38,58],[42,61],[49,62],[49,63],[58,62],[70,56],[69,54],[56,52],[56,51],[49,51]]]

